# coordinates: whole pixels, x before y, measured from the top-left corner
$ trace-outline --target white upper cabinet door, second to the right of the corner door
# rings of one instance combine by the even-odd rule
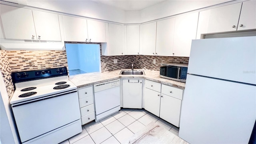
[[[156,27],[156,56],[172,56],[175,18],[161,20]]]

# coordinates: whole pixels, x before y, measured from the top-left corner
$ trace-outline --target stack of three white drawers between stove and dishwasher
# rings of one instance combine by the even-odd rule
[[[82,125],[95,120],[92,86],[78,90]]]

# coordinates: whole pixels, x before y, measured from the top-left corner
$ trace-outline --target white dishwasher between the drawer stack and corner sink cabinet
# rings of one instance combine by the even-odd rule
[[[94,84],[93,88],[96,122],[120,110],[119,79]]]

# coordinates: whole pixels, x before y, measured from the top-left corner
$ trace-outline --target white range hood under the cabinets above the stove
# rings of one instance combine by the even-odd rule
[[[0,43],[0,50],[65,50],[64,42]]]

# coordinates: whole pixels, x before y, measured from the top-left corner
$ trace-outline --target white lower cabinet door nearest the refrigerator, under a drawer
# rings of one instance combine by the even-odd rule
[[[179,127],[181,100],[161,94],[160,118]]]

